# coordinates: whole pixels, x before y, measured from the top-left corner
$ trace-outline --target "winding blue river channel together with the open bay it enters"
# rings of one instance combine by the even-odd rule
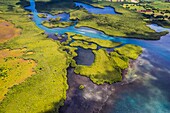
[[[101,32],[91,32],[90,28],[84,31],[74,27],[48,29],[40,24],[41,20],[36,16],[35,8],[32,11],[34,22],[46,32],[61,34],[74,32],[99,39],[116,40],[123,44],[139,45],[147,51],[143,53],[144,56],[132,64],[132,68],[129,68],[131,73],[126,75],[127,82],[123,84],[98,86],[86,77],[75,75],[73,69],[68,70],[70,85],[68,92],[71,90],[69,93],[71,96],[68,96],[68,103],[61,108],[64,109],[60,111],[61,113],[74,113],[75,111],[77,113],[168,113],[170,111],[170,34],[163,36],[159,41],[144,41],[111,37]],[[156,26],[152,26],[152,28],[156,28]],[[90,59],[90,62],[83,62],[82,59],[79,59],[78,63],[90,65],[92,61]],[[135,80],[133,80],[134,78]],[[84,91],[78,88],[81,84],[86,87]]]

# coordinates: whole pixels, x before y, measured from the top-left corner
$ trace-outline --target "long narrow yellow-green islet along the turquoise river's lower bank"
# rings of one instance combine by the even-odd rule
[[[113,47],[119,46],[121,44],[119,42],[112,42],[110,40],[91,38],[91,37],[83,36],[80,34],[75,34],[75,35],[73,34],[72,38],[74,40],[83,40],[86,42],[92,42],[92,43],[98,44],[99,46],[106,47],[106,48],[113,48]]]

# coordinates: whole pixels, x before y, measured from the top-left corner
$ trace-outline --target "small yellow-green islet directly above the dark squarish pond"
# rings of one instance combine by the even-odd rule
[[[70,44],[72,47],[82,47],[84,49],[97,49],[97,45],[93,43],[89,43],[86,41],[74,41]]]

